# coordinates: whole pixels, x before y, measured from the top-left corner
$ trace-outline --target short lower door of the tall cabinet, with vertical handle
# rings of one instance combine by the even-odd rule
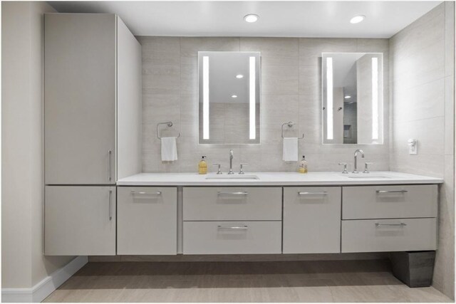
[[[47,256],[115,255],[115,187],[47,186]]]

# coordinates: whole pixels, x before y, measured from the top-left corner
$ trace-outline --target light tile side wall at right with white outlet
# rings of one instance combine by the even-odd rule
[[[390,169],[442,177],[433,285],[455,293],[455,6],[445,1],[390,39]],[[418,155],[407,140],[418,139]]]

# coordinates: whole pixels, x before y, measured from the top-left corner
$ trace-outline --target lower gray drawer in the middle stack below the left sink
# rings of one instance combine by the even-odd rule
[[[185,221],[184,254],[281,253],[281,221]]]

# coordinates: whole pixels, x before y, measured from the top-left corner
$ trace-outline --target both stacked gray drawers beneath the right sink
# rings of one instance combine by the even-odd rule
[[[342,252],[437,248],[437,185],[343,187]]]

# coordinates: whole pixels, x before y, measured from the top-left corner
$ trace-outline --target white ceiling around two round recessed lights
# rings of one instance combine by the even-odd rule
[[[136,36],[390,38],[441,1],[50,1],[59,12],[115,13]],[[258,14],[257,23],[243,20]],[[366,20],[351,24],[353,16]]]

